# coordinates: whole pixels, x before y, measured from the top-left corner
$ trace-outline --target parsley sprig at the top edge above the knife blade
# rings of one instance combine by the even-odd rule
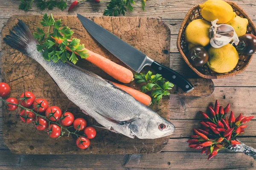
[[[105,16],[117,16],[117,15],[125,15],[125,11],[127,8],[130,11],[133,11],[134,8],[132,4],[134,4],[134,0],[111,0],[110,3],[107,5],[103,15]],[[143,11],[145,11],[145,0],[141,0],[141,6]]]

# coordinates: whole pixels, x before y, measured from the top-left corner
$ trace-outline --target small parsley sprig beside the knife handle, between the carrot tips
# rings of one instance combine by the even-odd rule
[[[170,95],[169,90],[174,86],[171,82],[166,81],[161,74],[152,74],[151,71],[145,73],[135,74],[136,83],[146,83],[140,88],[143,93],[151,91],[151,96],[153,97],[152,102],[158,103],[163,96]]]

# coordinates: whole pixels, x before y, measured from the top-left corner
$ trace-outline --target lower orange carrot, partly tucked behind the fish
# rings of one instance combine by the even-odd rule
[[[110,81],[111,82],[111,81]],[[117,87],[121,88],[123,91],[126,91],[128,94],[130,94],[131,96],[134,97],[134,99],[138,100],[139,102],[141,102],[142,104],[149,106],[151,105],[151,97],[140,92],[137,91],[133,88],[129,88],[125,85],[120,85],[118,83],[112,82],[114,85],[116,85]]]

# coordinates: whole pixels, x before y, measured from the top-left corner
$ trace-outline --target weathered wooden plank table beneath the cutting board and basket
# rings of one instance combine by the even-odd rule
[[[145,12],[140,8],[140,0],[136,0],[134,12],[127,12],[126,16],[158,17],[166,22],[171,29],[171,68],[185,74],[187,77],[196,77],[192,70],[186,66],[176,48],[176,39],[181,22],[190,7],[202,3],[202,0],[148,0]],[[255,0],[236,0],[256,23]],[[68,1],[68,6],[71,1]],[[0,28],[8,18],[15,14],[44,14],[102,16],[106,3],[95,3],[93,0],[84,2],[73,12],[67,9],[60,11],[40,11],[35,5],[28,12],[18,10],[20,0],[0,0]],[[0,47],[1,51],[1,47]],[[183,69],[177,63],[184,65]],[[231,153],[222,151],[214,159],[207,161],[205,155],[198,150],[191,150],[186,143],[192,134],[192,127],[197,127],[201,116],[198,111],[204,111],[215,99],[220,104],[231,104],[235,116],[244,113],[247,116],[256,114],[256,59],[242,74],[226,79],[214,80],[215,91],[209,97],[171,96],[170,121],[175,125],[175,133],[169,143],[158,154],[148,155],[15,155],[12,154],[3,142],[2,113],[0,111],[0,169],[2,170],[55,170],[55,169],[256,169],[255,161],[244,153]],[[246,133],[239,139],[245,144],[256,147],[256,120],[248,123]]]

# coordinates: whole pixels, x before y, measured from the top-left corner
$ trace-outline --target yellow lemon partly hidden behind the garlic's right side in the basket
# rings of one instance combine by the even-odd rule
[[[246,18],[241,18],[236,16],[234,19],[230,20],[226,24],[232,26],[236,31],[238,37],[246,34],[248,20]]]

